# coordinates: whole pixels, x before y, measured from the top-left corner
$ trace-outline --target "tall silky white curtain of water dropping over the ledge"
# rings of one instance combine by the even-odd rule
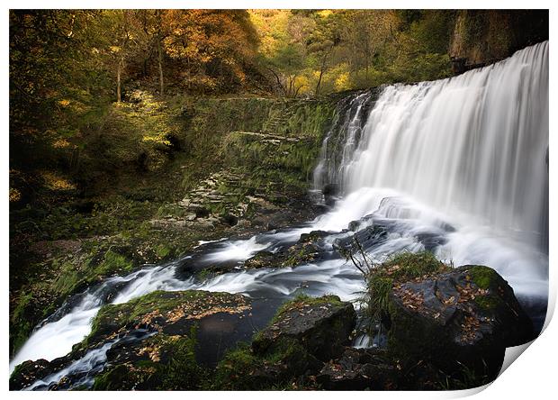
[[[328,135],[315,185],[390,187],[547,246],[548,41],[458,77],[387,86],[364,117],[366,101],[351,99],[337,158]]]

